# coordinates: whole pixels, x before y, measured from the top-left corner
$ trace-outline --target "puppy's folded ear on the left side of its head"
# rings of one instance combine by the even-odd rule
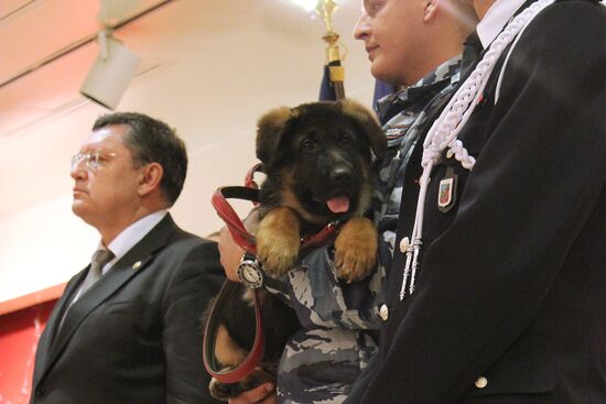
[[[257,123],[257,159],[268,168],[278,157],[278,148],[286,132],[295,110],[279,107],[263,114]]]

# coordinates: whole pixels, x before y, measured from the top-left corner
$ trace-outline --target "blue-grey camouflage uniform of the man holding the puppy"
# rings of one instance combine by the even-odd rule
[[[377,105],[388,139],[388,154],[374,196],[381,234],[378,271],[361,282],[342,283],[333,263],[334,249],[326,247],[309,252],[281,283],[267,286],[289,302],[303,325],[280,361],[279,403],[342,403],[377,353],[376,334],[381,323],[378,307],[383,302],[385,269],[393,252],[405,163],[419,129],[433,113],[434,100],[447,96],[458,81],[459,67],[457,56]]]

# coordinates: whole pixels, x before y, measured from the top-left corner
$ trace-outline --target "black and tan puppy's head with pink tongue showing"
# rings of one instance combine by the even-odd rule
[[[277,108],[259,120],[257,157],[277,205],[311,222],[364,211],[372,154],[386,138],[374,114],[351,100]]]

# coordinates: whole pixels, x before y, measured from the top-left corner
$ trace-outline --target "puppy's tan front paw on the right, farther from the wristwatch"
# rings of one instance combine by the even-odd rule
[[[349,219],[335,240],[337,276],[347,283],[370,275],[377,262],[377,230],[364,217]]]

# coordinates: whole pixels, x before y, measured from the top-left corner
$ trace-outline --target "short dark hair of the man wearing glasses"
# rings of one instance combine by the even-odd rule
[[[159,163],[164,170],[160,187],[172,206],[181,195],[187,174],[185,143],[166,123],[137,112],[107,113],[97,119],[93,130],[123,124],[125,142],[132,153],[136,167]]]

